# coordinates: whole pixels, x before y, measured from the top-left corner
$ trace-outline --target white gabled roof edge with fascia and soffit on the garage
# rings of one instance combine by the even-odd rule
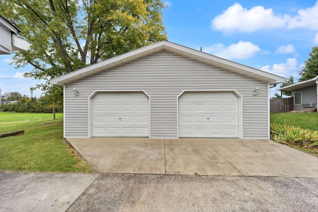
[[[92,75],[94,73],[105,71],[111,69],[113,67],[128,63],[130,61],[145,57],[147,55],[151,55],[153,53],[159,51],[168,51],[172,52],[190,59],[194,59],[196,61],[200,61],[206,64],[210,64],[225,70],[237,72],[242,75],[250,76],[252,78],[256,78],[269,84],[278,84],[285,82],[285,78],[268,73],[265,71],[260,71],[258,69],[254,69],[251,67],[247,67],[223,58],[219,58],[201,51],[197,51],[188,47],[184,47],[166,40],[159,41],[154,44],[150,44],[148,46],[133,50],[131,52],[127,52],[125,54],[116,56],[114,58],[107,59],[105,61],[99,62],[97,64],[93,64],[78,71],[73,71],[67,73],[62,76],[58,76],[50,80],[51,84],[55,85],[64,85],[70,83],[72,81],[84,78],[86,76]]]

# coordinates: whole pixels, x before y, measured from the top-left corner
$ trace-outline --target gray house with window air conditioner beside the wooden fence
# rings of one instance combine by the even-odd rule
[[[277,90],[291,90],[294,97],[294,110],[315,110],[318,101],[318,76],[315,78],[298,82]]]

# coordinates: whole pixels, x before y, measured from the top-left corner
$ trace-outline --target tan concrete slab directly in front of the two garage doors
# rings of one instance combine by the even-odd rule
[[[67,140],[102,173],[318,177],[318,157],[268,140]]]

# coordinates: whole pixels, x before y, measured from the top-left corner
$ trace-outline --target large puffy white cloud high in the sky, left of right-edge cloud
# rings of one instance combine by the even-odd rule
[[[282,28],[286,19],[288,16],[275,15],[272,8],[254,6],[248,10],[235,3],[223,14],[216,16],[211,21],[211,27],[222,32],[254,32],[260,29]]]

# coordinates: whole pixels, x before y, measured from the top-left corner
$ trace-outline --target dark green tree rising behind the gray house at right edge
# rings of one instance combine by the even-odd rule
[[[318,47],[314,47],[309,53],[309,58],[305,61],[305,66],[300,72],[302,75],[298,81],[306,81],[318,75]]]

